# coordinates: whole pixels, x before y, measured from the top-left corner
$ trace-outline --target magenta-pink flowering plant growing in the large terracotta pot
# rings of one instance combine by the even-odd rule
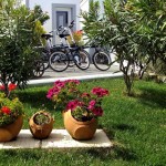
[[[94,87],[91,93],[79,90],[77,80],[56,81],[54,86],[48,91],[46,97],[60,105],[64,111],[71,110],[72,116],[77,121],[90,121],[102,116],[102,100],[108,95],[108,91]]]

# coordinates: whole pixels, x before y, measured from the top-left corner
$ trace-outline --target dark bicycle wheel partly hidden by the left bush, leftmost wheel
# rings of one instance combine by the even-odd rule
[[[41,77],[44,74],[44,64],[42,61],[34,62],[33,76]]]

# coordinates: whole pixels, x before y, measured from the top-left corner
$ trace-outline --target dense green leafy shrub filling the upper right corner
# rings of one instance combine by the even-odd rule
[[[128,0],[126,9],[133,15],[136,15],[135,31],[138,37],[136,42],[142,48],[142,54],[146,55],[143,61],[143,73],[148,63],[152,63],[155,68],[158,64],[166,64],[165,0]],[[141,69],[142,66],[141,63]]]

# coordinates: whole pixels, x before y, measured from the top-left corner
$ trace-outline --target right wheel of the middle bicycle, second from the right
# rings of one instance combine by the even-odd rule
[[[74,63],[81,70],[86,70],[90,66],[90,55],[86,51],[74,53]]]

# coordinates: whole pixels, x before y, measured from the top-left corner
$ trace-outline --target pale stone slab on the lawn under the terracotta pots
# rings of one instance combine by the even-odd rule
[[[75,141],[65,129],[53,129],[46,139],[34,139],[29,129],[21,129],[17,139],[0,143],[0,148],[69,148],[69,147],[111,147],[113,144],[103,129],[97,129],[91,141]]]

